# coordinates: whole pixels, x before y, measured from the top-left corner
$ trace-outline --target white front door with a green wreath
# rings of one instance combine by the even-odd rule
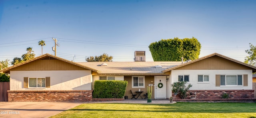
[[[155,99],[166,99],[166,76],[155,76]]]

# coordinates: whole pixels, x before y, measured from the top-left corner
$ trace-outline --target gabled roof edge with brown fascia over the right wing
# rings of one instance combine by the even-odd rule
[[[164,70],[164,71],[162,71],[162,72],[163,72],[163,73],[166,73],[166,72],[168,72],[168,71],[171,71],[171,70],[174,70],[174,69],[177,69],[177,68],[180,68],[180,67],[189,65],[189,64],[191,64],[191,63],[195,63],[195,62],[197,62],[197,61],[200,61],[200,60],[203,60],[203,59],[206,59],[206,58],[209,58],[209,57],[213,57],[213,56],[219,56],[219,57],[222,57],[222,58],[224,58],[224,59],[228,59],[228,60],[230,60],[230,61],[239,63],[239,64],[241,64],[241,65],[245,65],[245,66],[247,66],[247,67],[252,68],[252,71],[253,71],[253,72],[256,72],[256,67],[255,67],[255,66],[249,65],[249,64],[247,64],[247,63],[243,63],[243,62],[241,62],[241,61],[238,61],[238,60],[236,60],[236,59],[232,59],[232,58],[230,58],[230,57],[226,57],[226,56],[221,55],[221,54],[218,54],[218,53],[213,53],[213,54],[211,54],[211,55],[207,55],[207,56],[201,57],[201,58],[199,58],[199,59],[196,59],[196,60],[193,60],[193,61],[189,61],[189,62],[187,62],[187,63],[183,63],[183,64],[181,64],[181,65],[178,65],[178,66],[175,66],[175,67],[166,69],[166,70]]]

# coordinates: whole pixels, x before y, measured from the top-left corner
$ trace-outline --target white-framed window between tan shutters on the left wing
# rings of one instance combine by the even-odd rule
[[[28,78],[29,87],[46,87],[45,83],[46,83],[45,77]]]

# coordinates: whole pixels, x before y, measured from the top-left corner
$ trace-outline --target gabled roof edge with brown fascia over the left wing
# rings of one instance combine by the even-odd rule
[[[0,72],[6,73],[6,72],[10,71],[10,69],[13,69],[13,68],[15,68],[15,67],[18,67],[18,66],[20,66],[20,65],[24,65],[24,64],[29,63],[29,62],[31,62],[31,61],[35,61],[35,60],[38,60],[38,59],[44,59],[44,58],[46,58],[46,57],[50,57],[50,58],[58,59],[58,60],[61,60],[61,61],[65,61],[65,62],[67,62],[67,63],[73,64],[73,65],[76,65],[76,66],[79,66],[79,67],[82,67],[82,68],[85,68],[85,69],[88,69],[88,70],[91,70],[91,71],[95,71],[95,72],[97,72],[97,73],[100,72],[100,71],[98,71],[98,70],[96,70],[96,69],[92,69],[92,68],[90,68],[90,67],[86,67],[86,66],[84,66],[84,65],[80,65],[79,63],[75,63],[75,62],[72,62],[72,61],[68,61],[68,60],[66,60],[66,59],[62,59],[62,58],[60,58],[60,57],[56,57],[56,56],[54,56],[54,55],[50,55],[50,54],[48,54],[48,53],[46,53],[46,54],[44,54],[44,55],[41,55],[41,56],[38,56],[38,57],[35,57],[35,58],[30,59],[30,60],[28,60],[28,61],[24,61],[24,62],[22,62],[22,63],[18,63],[18,64],[16,64],[16,65],[13,65],[13,66],[8,67],[8,68],[6,68],[6,69],[2,69],[2,70],[0,70]]]

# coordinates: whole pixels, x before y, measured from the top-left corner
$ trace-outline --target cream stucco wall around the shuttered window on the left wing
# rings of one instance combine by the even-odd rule
[[[50,77],[50,88],[24,88],[24,77]],[[10,90],[92,90],[91,71],[10,71]]]

